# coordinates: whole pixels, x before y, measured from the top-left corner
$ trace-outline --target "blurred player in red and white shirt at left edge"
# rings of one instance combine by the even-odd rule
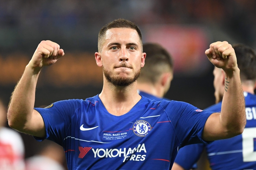
[[[24,170],[24,144],[15,130],[6,128],[6,107],[0,99],[0,170]]]

